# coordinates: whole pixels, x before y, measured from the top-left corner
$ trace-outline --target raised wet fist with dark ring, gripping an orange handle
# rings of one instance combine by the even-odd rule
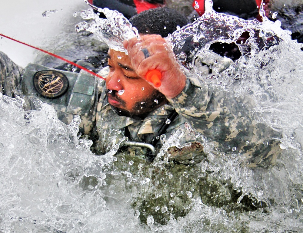
[[[160,35],[143,35],[123,43],[136,73],[144,78],[151,70],[161,72],[161,86],[156,88],[167,98],[174,98],[185,87],[186,76],[175,54]],[[142,51],[144,49],[144,51]],[[146,56],[146,53],[148,55]],[[152,84],[151,84],[152,85]]]

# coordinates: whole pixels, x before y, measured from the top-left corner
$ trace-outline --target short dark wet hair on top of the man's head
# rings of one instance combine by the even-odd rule
[[[138,29],[140,34],[158,34],[167,37],[177,30],[177,26],[183,27],[190,23],[185,15],[167,8],[155,8],[142,11],[130,18],[130,23]]]

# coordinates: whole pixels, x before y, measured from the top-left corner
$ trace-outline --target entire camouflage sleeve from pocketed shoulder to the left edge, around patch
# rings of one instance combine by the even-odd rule
[[[69,81],[68,90],[59,98],[50,99],[37,93],[33,87],[33,76],[38,71],[58,71],[66,75]],[[28,64],[22,68],[13,63],[6,54],[0,51],[1,92],[9,97],[20,96],[25,100],[25,110],[35,110],[38,100],[52,105],[65,124],[71,123],[75,115],[81,116],[79,131],[89,134],[94,131],[98,100],[98,77],[85,71],[68,72],[48,68],[38,64]]]

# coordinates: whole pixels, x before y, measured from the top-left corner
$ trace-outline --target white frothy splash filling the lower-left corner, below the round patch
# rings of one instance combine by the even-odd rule
[[[99,187],[106,185],[102,169],[115,160],[119,145],[95,156],[92,142],[78,139],[78,116],[66,126],[50,105],[40,102],[39,110],[24,112],[23,103],[0,94],[1,231],[108,229],[102,222],[115,213],[107,212]]]

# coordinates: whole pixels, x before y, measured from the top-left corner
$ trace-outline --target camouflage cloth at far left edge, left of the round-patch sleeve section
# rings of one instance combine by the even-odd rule
[[[0,92],[9,97],[21,94],[22,68],[0,51]]]

